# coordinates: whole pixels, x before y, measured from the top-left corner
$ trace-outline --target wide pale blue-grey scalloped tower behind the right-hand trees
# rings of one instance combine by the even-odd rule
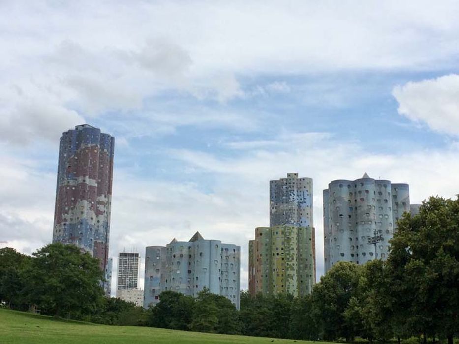
[[[325,272],[338,261],[364,264],[386,259],[389,240],[404,212],[416,212],[410,204],[408,184],[373,179],[365,173],[357,180],[334,180],[323,192]],[[380,236],[376,244],[368,237]]]

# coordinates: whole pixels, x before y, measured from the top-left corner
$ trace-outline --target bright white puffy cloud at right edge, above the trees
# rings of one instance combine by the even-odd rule
[[[459,135],[459,75],[395,86],[398,113],[431,129]]]

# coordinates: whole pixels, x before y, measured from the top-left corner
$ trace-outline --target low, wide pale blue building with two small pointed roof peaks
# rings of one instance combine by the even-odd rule
[[[196,297],[204,288],[240,301],[240,246],[205,240],[196,232],[189,241],[172,240],[145,250],[144,307],[159,302],[162,291]]]

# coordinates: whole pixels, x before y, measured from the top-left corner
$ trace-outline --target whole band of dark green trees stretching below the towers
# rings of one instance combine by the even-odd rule
[[[306,340],[387,342],[459,336],[459,198],[431,197],[405,213],[386,261],[338,262],[306,297],[241,292],[241,309],[203,290],[173,291],[148,310],[103,297],[98,261],[72,245],[26,256],[0,249],[0,302],[18,310],[109,325]]]

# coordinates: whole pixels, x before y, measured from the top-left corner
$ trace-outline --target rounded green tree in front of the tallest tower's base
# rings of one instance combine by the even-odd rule
[[[97,258],[61,243],[46,245],[33,257],[23,272],[30,304],[55,316],[78,318],[96,311],[103,297]]]

